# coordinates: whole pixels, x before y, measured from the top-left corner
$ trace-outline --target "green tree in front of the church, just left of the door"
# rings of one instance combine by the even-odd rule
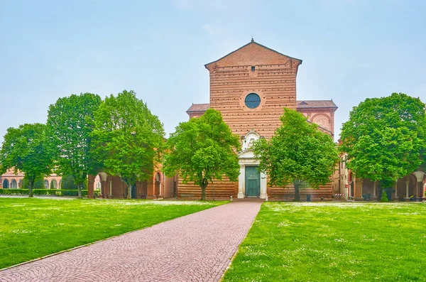
[[[223,175],[231,181],[238,178],[239,137],[232,134],[222,114],[214,109],[207,109],[196,119],[181,122],[170,135],[167,147],[165,175],[171,177],[178,172],[185,183],[193,181],[200,185],[201,200],[205,200],[209,181],[222,180]]]

